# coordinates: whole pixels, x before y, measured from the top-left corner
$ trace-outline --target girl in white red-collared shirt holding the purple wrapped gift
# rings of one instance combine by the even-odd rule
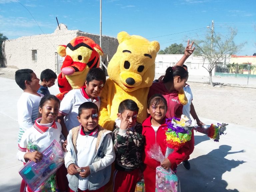
[[[59,113],[59,107],[60,101],[54,95],[46,95],[41,99],[39,103],[39,114],[41,117],[36,119],[34,126],[27,129],[23,134],[17,153],[18,160],[24,163],[28,161],[40,162],[43,157],[41,152],[44,151],[54,139],[60,142],[61,125],[55,122]],[[61,186],[61,183],[57,181],[59,179],[60,178],[56,178],[55,174],[52,175],[51,181],[46,182],[44,185],[45,190],[65,191],[65,184]],[[26,191],[31,192],[32,190],[27,186]]]

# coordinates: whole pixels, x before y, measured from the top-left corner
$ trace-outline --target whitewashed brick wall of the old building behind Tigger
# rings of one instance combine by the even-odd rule
[[[79,30],[68,30],[64,24],[56,28],[52,34],[40,34],[7,40],[3,45],[5,66],[18,69],[32,69],[38,77],[44,69],[51,69],[57,73],[57,46],[67,45],[77,36],[87,36],[99,43],[99,35],[85,33]],[[109,60],[117,50],[116,38],[102,36],[102,49],[108,55]],[[37,61],[32,60],[32,50],[37,52]],[[34,51],[35,52],[35,51]]]

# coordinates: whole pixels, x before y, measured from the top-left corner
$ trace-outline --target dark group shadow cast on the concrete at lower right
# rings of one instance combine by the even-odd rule
[[[201,155],[189,160],[191,165],[189,171],[185,170],[182,164],[180,164],[177,175],[181,181],[181,191],[239,192],[237,189],[226,189],[228,183],[222,179],[222,174],[245,163],[245,161],[228,160],[225,156],[245,151],[229,152],[230,150],[231,146],[221,145],[219,149],[214,149],[207,155]]]

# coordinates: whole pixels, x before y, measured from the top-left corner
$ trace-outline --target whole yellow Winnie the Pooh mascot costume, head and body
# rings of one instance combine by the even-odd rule
[[[108,75],[101,92],[99,124],[113,130],[118,106],[125,99],[132,99],[139,107],[137,121],[147,117],[147,96],[155,77],[155,58],[160,49],[157,41],[120,32],[119,46],[108,64]]]

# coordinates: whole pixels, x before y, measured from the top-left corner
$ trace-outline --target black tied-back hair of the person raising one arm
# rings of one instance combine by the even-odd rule
[[[188,72],[181,66],[168,67],[165,71],[163,82],[173,82],[175,76],[180,76],[181,79],[185,79],[188,77]]]

